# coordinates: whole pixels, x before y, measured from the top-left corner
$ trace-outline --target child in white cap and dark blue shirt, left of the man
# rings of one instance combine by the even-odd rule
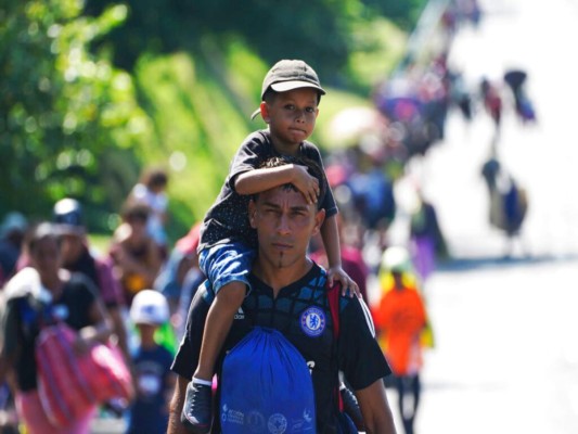
[[[127,434],[166,432],[176,378],[170,372],[172,354],[157,344],[154,335],[168,319],[168,303],[163,294],[143,290],[134,296],[130,320],[138,329],[140,344],[132,357],[137,397],[129,409]]]

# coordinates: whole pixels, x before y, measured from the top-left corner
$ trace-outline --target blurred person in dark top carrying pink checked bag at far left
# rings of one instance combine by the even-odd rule
[[[74,350],[87,352],[93,343],[108,339],[111,320],[93,283],[61,268],[52,225],[42,222],[33,229],[26,248],[31,267],[21,270],[4,289],[0,381],[15,373],[16,409],[28,434],[89,434],[97,403],[64,426],[55,426],[48,418],[38,392],[35,348],[42,324],[64,321],[77,331]]]

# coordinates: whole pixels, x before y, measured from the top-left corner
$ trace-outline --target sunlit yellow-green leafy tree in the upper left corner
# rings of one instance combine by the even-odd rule
[[[126,8],[87,18],[81,7],[78,0],[0,7],[0,212],[46,218],[55,201],[73,196],[104,210],[91,221],[102,228],[106,210],[119,204],[103,189],[102,177],[115,176],[101,162],[124,148],[124,170],[115,174],[123,182],[136,166],[130,148],[150,127],[130,75],[106,53],[88,51],[124,22]]]

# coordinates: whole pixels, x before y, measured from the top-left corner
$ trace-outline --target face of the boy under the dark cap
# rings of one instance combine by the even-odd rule
[[[261,103],[264,120],[277,151],[295,155],[299,143],[306,140],[316,127],[318,93],[311,88],[299,88],[280,92],[270,102]]]

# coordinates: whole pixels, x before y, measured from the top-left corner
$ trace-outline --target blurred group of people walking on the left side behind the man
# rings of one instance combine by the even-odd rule
[[[18,424],[29,433],[52,432],[47,421],[30,417],[39,412],[42,393],[34,348],[48,322],[43,312],[63,308],[75,315],[51,317],[48,323],[64,318],[81,337],[91,333],[89,329],[101,331],[86,345],[97,341],[114,345],[123,354],[118,362],[131,372],[134,396],[99,403],[100,416],[123,417],[127,433],[165,432],[177,336],[182,333],[192,290],[202,281],[196,227],[169,252],[167,184],[164,169],[146,170],[119,210],[121,220],[110,244],[100,248],[91,245],[82,204],[75,199],[56,202],[52,216],[42,221],[28,221],[17,212],[4,216],[0,226],[2,432],[17,432]],[[82,297],[92,301],[89,305],[70,295],[80,293],[79,288],[86,293]],[[101,311],[98,306],[102,316],[95,315]],[[54,432],[87,432],[97,410],[70,418],[69,426]]]

